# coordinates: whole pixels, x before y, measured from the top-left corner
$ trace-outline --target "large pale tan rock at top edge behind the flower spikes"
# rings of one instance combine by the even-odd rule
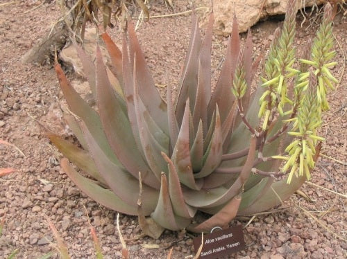
[[[263,3],[263,10],[260,13]],[[303,3],[305,3],[305,6],[312,6],[314,3],[317,5],[323,3],[323,0],[297,0],[297,7],[303,8]],[[280,0],[213,1],[213,12],[217,33],[225,36],[231,33],[232,13],[234,12],[239,23],[239,33],[244,33],[249,27],[256,24],[259,19],[266,16],[280,15],[285,13],[286,10],[287,1]]]

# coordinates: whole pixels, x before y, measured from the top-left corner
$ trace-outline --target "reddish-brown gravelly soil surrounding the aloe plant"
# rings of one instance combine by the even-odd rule
[[[176,12],[191,8],[187,1],[174,3]],[[16,145],[24,153],[23,156],[15,148],[0,145],[0,168],[16,168],[15,173],[0,178],[0,219],[6,220],[0,238],[0,258],[7,258],[15,249],[19,249],[17,258],[40,258],[54,251],[50,242],[56,241],[46,216],[56,225],[73,258],[95,258],[85,208],[105,258],[121,258],[121,244],[115,229],[117,213],[99,206],[71,183],[59,166],[60,154],[33,119],[72,139],[61,118],[62,94],[51,64],[34,66],[21,62],[24,53],[59,16],[54,5],[33,10],[35,6],[37,1],[19,1],[0,7],[0,139]],[[167,12],[162,1],[152,1],[152,15]],[[305,44],[316,28],[314,25],[305,30],[308,21],[300,28],[302,19],[298,15],[298,46]],[[166,71],[170,80],[177,82],[189,41],[189,24],[188,15],[151,19],[139,28],[139,39],[156,83],[166,82]],[[252,28],[257,55],[266,51],[271,33],[280,24],[281,21],[265,21]],[[330,93],[331,109],[324,117],[321,130],[326,142],[312,179],[314,184],[344,194],[347,190],[347,87],[343,71],[346,31],[346,17],[337,15],[334,32],[340,46],[336,44],[339,65],[334,73],[341,78],[341,83]],[[119,39],[119,30],[112,30],[112,35]],[[226,41],[224,37],[214,37],[214,68],[222,60]],[[73,73],[69,77],[82,80]],[[285,202],[284,206],[290,207],[284,211],[257,215],[248,226],[250,217],[231,222],[231,225],[246,226],[246,249],[230,258],[346,258],[346,199],[308,184],[301,191],[310,201],[294,195]],[[165,231],[159,240],[137,239],[141,231],[136,217],[120,215],[120,224],[130,258],[166,258],[171,247],[174,248],[172,258],[194,254],[192,235]],[[143,244],[158,244],[160,248],[145,249]],[[58,258],[57,254],[52,258]]]

